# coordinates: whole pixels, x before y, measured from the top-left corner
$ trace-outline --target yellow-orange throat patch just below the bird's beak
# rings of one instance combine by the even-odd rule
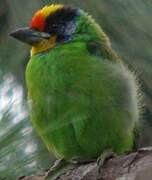
[[[55,46],[55,42],[56,42],[56,36],[52,36],[50,39],[46,39],[41,41],[40,43],[35,44],[34,46],[32,46],[31,56],[45,52],[53,48]]]

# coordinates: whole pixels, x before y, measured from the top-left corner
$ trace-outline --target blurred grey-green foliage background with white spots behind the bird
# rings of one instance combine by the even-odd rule
[[[70,4],[92,14],[121,59],[135,71],[144,106],[141,145],[152,144],[151,0],[1,0],[0,179],[41,173],[54,161],[28,117],[24,72],[30,47],[9,37],[12,30],[29,26],[35,11],[52,3]]]

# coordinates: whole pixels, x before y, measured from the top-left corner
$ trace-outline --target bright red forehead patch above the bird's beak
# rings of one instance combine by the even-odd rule
[[[45,18],[43,17],[43,15],[41,13],[37,13],[30,24],[31,28],[36,28],[39,29],[40,31],[44,30],[45,27]]]

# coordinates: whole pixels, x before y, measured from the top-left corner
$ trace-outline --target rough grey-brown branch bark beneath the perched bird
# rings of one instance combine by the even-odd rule
[[[45,175],[33,175],[19,180],[44,180]],[[96,162],[67,170],[55,180],[152,180],[152,147],[109,159],[104,166]]]

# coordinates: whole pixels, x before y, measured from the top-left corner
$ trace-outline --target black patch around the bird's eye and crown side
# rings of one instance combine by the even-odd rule
[[[46,18],[44,31],[52,35],[58,35],[59,39],[62,39],[64,35],[67,36],[67,28],[70,28],[69,24],[73,28],[77,11],[78,9],[67,6],[57,10],[54,14],[50,14]]]

